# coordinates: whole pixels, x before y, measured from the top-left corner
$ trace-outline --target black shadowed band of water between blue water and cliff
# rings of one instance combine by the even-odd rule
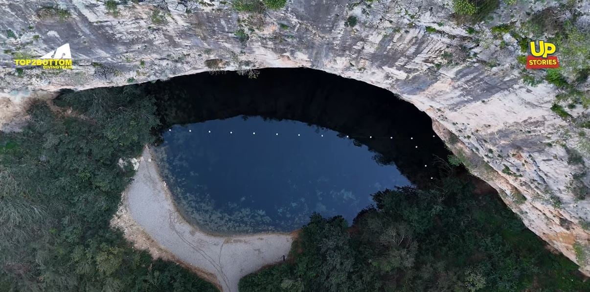
[[[173,125],[242,115],[294,120],[333,130],[343,139],[349,136],[355,145],[368,147],[380,165],[397,166],[421,188],[437,181],[437,157],[450,154],[430,117],[412,104],[382,88],[322,71],[271,68],[256,79],[231,72],[196,74],[145,84],[145,90],[156,97],[162,120],[159,143]],[[186,217],[188,211],[181,211]]]

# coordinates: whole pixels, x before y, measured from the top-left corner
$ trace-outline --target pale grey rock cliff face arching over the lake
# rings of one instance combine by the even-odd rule
[[[324,70],[391,90],[425,111],[455,155],[494,186],[527,227],[590,274],[584,166],[590,165],[590,132],[550,110],[555,87],[523,83],[510,34],[500,41],[490,33],[493,25],[519,24],[526,12],[543,7],[501,3],[496,20],[472,25],[477,34],[469,34],[453,20],[447,0],[289,0],[260,13],[209,0],[0,1],[2,123],[28,97],[61,88],[202,71]],[[590,4],[577,5],[585,11],[579,25],[585,25]],[[14,58],[38,57],[65,43],[73,70],[15,70]],[[578,107],[572,114],[589,113]]]

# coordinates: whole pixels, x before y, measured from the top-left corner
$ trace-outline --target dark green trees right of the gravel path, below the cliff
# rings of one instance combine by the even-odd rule
[[[242,278],[240,291],[590,290],[490,195],[447,178],[375,193],[352,227],[313,215],[289,260]]]

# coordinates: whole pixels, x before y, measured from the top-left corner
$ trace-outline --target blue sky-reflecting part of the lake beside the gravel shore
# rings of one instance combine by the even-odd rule
[[[350,138],[292,120],[232,117],[165,129],[156,152],[189,221],[218,233],[289,232],[313,212],[352,222],[372,193],[410,184]]]

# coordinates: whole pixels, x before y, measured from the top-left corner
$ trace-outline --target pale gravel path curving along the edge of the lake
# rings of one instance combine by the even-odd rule
[[[176,211],[171,194],[146,148],[133,182],[112,225],[121,228],[136,248],[173,260],[213,281],[224,292],[237,292],[238,281],[264,265],[283,260],[293,234],[218,237],[205,234]]]

